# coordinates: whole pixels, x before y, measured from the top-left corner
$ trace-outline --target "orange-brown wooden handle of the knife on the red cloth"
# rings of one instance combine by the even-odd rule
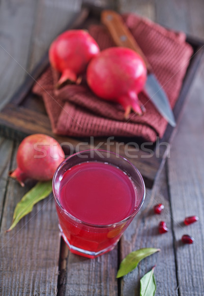
[[[151,66],[149,62],[147,61],[135,38],[124,24],[121,16],[114,10],[103,10],[101,13],[101,22],[109,30],[109,33],[111,34],[116,45],[128,47],[136,51],[144,60],[147,71],[151,72]]]

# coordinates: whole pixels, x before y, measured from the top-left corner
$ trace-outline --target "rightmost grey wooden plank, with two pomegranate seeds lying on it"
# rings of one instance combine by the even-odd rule
[[[159,22],[163,18],[167,26],[176,30],[184,30],[190,35],[193,34],[204,39],[204,20],[201,17],[203,1],[196,0],[193,3],[188,1],[176,3],[171,1],[170,3],[169,1],[168,4],[166,3],[166,9],[169,8],[166,12],[164,3],[158,2],[158,8],[160,7],[161,12],[163,12],[158,13]],[[182,9],[178,9],[179,5],[182,6]],[[179,17],[176,17],[176,14],[179,14]],[[202,168],[204,57],[202,57],[200,64],[202,66],[188,95],[187,106],[168,161],[178,293],[180,296],[204,295],[204,235],[202,232],[204,225],[202,219],[204,210],[204,170]],[[200,224],[184,226],[183,219],[185,216],[192,215],[200,217]],[[184,246],[181,243],[181,236],[185,233],[195,237],[195,243],[192,246]]]

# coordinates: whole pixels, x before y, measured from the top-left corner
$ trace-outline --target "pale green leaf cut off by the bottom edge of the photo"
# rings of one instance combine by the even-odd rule
[[[154,267],[140,280],[140,296],[154,296],[156,292],[156,281]]]

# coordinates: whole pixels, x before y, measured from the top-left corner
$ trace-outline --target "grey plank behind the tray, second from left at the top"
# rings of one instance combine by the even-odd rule
[[[81,10],[82,0],[41,0],[37,5],[29,55],[29,70],[38,63],[50,43],[70,24]]]

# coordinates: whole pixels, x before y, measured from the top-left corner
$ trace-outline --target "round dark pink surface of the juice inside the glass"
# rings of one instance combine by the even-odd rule
[[[60,181],[59,202],[72,216],[91,224],[119,222],[133,213],[137,191],[117,167],[84,162],[66,171]]]

